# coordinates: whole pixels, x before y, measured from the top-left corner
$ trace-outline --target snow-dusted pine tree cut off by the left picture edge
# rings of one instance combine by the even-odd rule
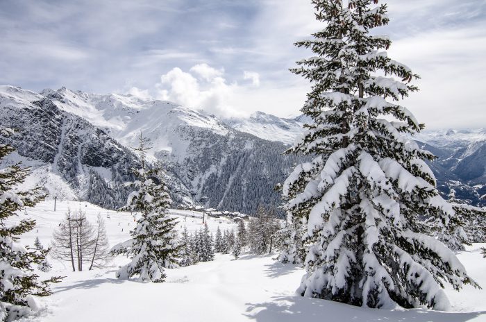
[[[10,137],[15,131],[0,128],[0,135]],[[13,151],[10,144],[0,144],[0,161]],[[20,163],[0,169],[0,321],[12,321],[31,313],[35,310],[33,296],[51,295],[50,284],[61,279],[39,280],[39,276],[32,273],[32,266],[42,264],[49,249],[31,249],[18,242],[20,235],[33,230],[35,221],[10,221],[25,207],[33,207],[45,197],[40,187],[18,188],[28,173],[29,168],[21,167]]]

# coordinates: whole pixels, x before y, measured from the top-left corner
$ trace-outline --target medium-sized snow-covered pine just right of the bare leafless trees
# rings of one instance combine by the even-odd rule
[[[169,217],[167,208],[171,198],[167,187],[157,175],[160,169],[149,169],[146,164],[148,139],[140,133],[139,146],[141,167],[135,171],[138,180],[132,185],[137,190],[128,196],[125,209],[140,213],[131,239],[114,248],[115,254],[126,254],[131,262],[117,271],[117,278],[131,278],[138,275],[142,281],[163,282],[164,268],[177,266],[178,245],[175,219]]]

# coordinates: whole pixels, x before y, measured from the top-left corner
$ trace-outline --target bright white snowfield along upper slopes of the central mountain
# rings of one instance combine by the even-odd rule
[[[206,115],[168,101],[142,100],[130,94],[87,94],[65,87],[44,90],[43,95],[59,108],[90,121],[106,130],[124,146],[136,146],[140,132],[152,142],[151,156],[169,151],[183,158],[186,144],[178,129],[191,126],[228,134],[228,126],[212,115]]]

